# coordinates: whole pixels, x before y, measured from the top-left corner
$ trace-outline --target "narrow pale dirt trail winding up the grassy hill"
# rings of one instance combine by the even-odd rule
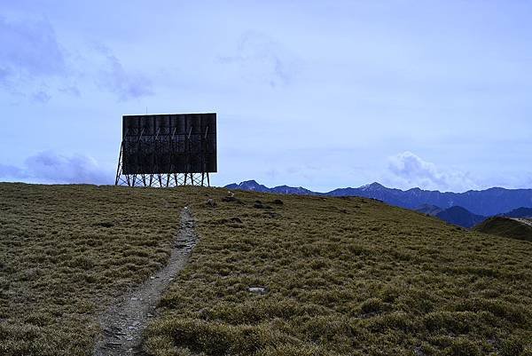
[[[102,335],[94,347],[94,356],[144,355],[142,333],[153,317],[161,293],[183,269],[187,257],[196,245],[194,220],[189,209],[181,212],[181,227],[176,236],[168,265],[150,277],[137,289],[117,300],[99,318]]]

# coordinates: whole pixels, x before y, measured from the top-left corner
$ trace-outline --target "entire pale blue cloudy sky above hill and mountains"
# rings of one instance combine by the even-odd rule
[[[223,186],[532,188],[532,2],[0,0],[0,180],[113,184],[217,113]]]

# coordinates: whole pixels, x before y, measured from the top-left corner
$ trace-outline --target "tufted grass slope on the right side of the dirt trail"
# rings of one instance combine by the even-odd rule
[[[359,198],[210,194],[154,355],[532,355],[530,242]]]

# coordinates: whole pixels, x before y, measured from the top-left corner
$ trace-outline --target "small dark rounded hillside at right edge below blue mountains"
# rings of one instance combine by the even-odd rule
[[[532,241],[532,222],[525,218],[493,217],[476,225],[474,230],[512,239]]]

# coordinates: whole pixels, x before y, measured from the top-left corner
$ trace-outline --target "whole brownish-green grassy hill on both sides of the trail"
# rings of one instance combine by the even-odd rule
[[[532,355],[530,242],[363,198],[226,193],[0,184],[0,354],[90,355],[186,205],[200,243],[150,354]]]

